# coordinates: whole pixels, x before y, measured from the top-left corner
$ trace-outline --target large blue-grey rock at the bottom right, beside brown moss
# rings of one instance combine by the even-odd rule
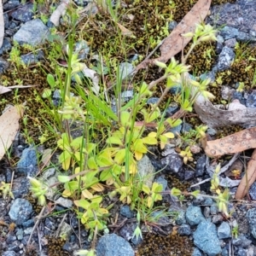
[[[194,237],[194,244],[208,256],[215,256],[221,252],[220,242],[217,236],[216,226],[206,220],[201,221],[197,226]]]

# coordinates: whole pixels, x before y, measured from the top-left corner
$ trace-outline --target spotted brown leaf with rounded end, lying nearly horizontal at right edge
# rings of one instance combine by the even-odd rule
[[[224,154],[235,154],[249,148],[256,148],[256,127],[218,140],[208,141],[204,149],[208,156],[217,157]]]

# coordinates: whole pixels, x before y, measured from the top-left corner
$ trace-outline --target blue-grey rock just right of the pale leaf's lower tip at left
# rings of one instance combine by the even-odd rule
[[[36,172],[33,173],[33,169],[36,168],[37,164],[38,160],[36,149],[30,146],[23,150],[21,158],[17,164],[17,172],[25,173],[26,175],[33,177],[36,174]]]

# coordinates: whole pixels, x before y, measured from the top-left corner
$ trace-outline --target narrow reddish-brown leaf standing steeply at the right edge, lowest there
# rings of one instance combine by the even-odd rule
[[[245,195],[247,195],[248,189],[256,180],[256,149],[253,151],[251,160],[248,162],[247,175],[244,175],[239,184],[235,198],[236,200],[241,200]]]

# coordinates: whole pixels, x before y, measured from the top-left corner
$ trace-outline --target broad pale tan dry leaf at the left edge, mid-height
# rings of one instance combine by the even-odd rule
[[[0,160],[13,143],[20,129],[19,120],[24,113],[24,106],[17,105],[7,109],[0,116]]]

